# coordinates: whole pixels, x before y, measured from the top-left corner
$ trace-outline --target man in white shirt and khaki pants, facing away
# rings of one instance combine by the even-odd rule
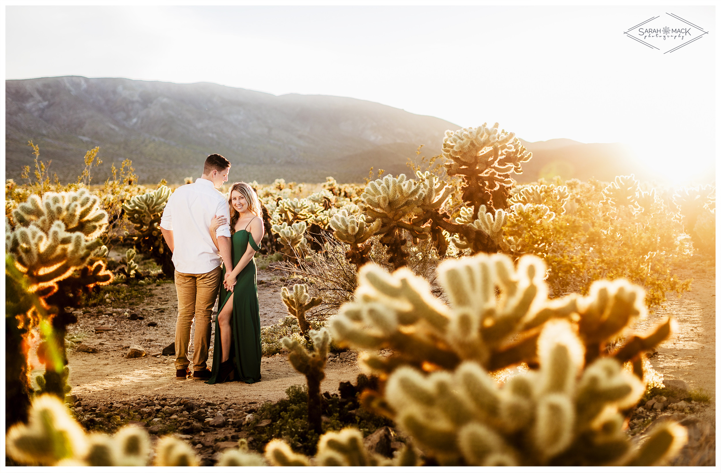
[[[175,265],[178,316],[175,323],[175,376],[190,376],[187,348],[190,327],[195,320],[193,379],[208,379],[208,346],[211,343],[213,305],[221,284],[221,263],[232,270],[228,201],[218,191],[228,181],[229,161],[219,154],[205,159],[203,176],[193,184],[180,186],[168,199],[160,220]],[[218,227],[218,248],[211,238],[213,216],[226,217]],[[220,254],[218,254],[220,253]]]

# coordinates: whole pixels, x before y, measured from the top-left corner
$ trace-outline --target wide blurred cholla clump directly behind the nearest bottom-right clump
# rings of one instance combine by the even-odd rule
[[[392,348],[388,358],[366,353],[363,359],[369,369],[389,374],[402,364],[426,371],[455,369],[464,360],[488,370],[535,364],[538,328],[552,318],[578,321],[590,363],[637,318],[645,317],[643,290],[627,281],[596,281],[588,297],[570,294],[550,301],[545,271],[543,261],[530,255],[521,257],[518,269],[503,254],[444,261],[438,281],[448,307],[431,295],[425,279],[409,270],[388,274],[368,264],[358,274],[355,301],[341,308],[330,328],[339,346]],[[667,321],[645,338],[630,337],[613,356],[633,361],[634,372],[642,377],[640,351],[670,330]]]

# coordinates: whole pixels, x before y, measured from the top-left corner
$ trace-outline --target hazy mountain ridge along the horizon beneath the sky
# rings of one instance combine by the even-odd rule
[[[95,181],[109,176],[110,163],[130,158],[141,182],[178,183],[200,176],[205,156],[220,153],[233,163],[231,179],[360,182],[371,166],[407,172],[419,145],[438,154],[446,130],[460,128],[352,97],[275,96],[210,82],[59,76],[5,84],[6,178],[14,179],[32,164],[33,140],[61,181],[74,181],[85,151],[99,145],[104,163],[94,168]],[[622,171],[631,157],[618,143],[522,143],[534,158],[514,176],[520,182],[554,172],[603,180],[632,172]]]

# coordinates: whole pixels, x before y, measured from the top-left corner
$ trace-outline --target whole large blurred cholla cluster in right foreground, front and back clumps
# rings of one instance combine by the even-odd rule
[[[544,274],[535,256],[517,269],[503,254],[445,261],[438,281],[446,305],[407,269],[364,266],[355,300],[330,328],[334,343],[366,350],[363,363],[386,380],[383,393],[364,393],[365,405],[443,464],[667,459],[683,429],[662,425],[637,449],[624,436],[622,411],[642,396],[642,353],[668,336],[671,320],[632,335],[646,313],[640,287],[596,281],[588,297],[549,300]],[[622,335],[627,342],[612,348]],[[392,356],[373,354],[383,348]],[[488,374],[519,364],[531,372],[503,388]]]

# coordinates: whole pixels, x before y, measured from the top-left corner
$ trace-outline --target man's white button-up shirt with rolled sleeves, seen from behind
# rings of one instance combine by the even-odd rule
[[[211,238],[213,215],[224,215],[230,222],[228,201],[208,179],[180,186],[168,199],[160,226],[173,231],[173,264],[180,273],[205,274],[223,260]],[[221,225],[217,236],[230,238],[230,225]]]

